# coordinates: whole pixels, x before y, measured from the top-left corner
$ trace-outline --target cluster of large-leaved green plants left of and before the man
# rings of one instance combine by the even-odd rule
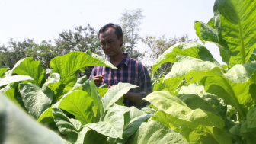
[[[43,81],[46,74],[40,62],[21,59],[11,70],[16,75],[0,79],[2,86],[6,85],[1,91],[69,142],[88,143],[100,138],[101,143],[125,143],[151,115],[121,104],[123,94],[136,85],[97,88],[86,76],[78,78],[78,72],[96,65],[117,69],[89,50],[71,52],[51,60],[53,70]]]

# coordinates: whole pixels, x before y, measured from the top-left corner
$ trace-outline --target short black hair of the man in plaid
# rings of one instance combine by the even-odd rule
[[[123,37],[123,30],[118,24],[108,23],[101,27],[101,29],[98,32],[98,38],[100,38],[100,34],[107,31],[109,27],[114,28],[114,33],[117,35],[117,39],[119,40],[121,37]]]

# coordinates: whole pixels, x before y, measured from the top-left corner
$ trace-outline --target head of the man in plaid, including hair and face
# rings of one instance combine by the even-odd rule
[[[98,39],[101,42],[102,50],[110,59],[123,56],[121,51],[123,32],[120,26],[115,24],[104,25],[99,30]]]

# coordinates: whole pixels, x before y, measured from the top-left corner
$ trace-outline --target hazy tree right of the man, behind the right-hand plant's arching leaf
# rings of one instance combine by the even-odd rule
[[[142,58],[143,59],[149,59],[150,62],[155,62],[155,59],[157,59],[159,56],[162,55],[162,53],[165,52],[165,50],[168,50],[169,47],[173,46],[176,43],[181,42],[192,42],[197,41],[197,39],[189,39],[187,34],[184,34],[182,37],[166,37],[165,35],[162,35],[162,37],[155,37],[155,36],[146,36],[145,38],[141,38],[142,43],[146,44],[147,50],[145,53],[143,53]],[[166,62],[161,66],[160,69],[158,69],[158,72],[156,72],[155,76],[157,78],[160,78],[161,75],[167,75],[168,72],[171,72],[171,66],[172,64],[169,62]],[[149,65],[146,65],[147,69],[149,69],[149,72],[152,72],[152,67]]]

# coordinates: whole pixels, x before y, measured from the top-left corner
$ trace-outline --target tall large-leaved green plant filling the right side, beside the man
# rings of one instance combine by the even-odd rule
[[[178,43],[155,60],[153,72],[165,62],[174,65],[155,87],[165,91],[145,98],[157,110],[150,120],[189,143],[255,142],[254,7],[253,1],[216,0],[214,18],[195,22],[200,40],[216,43],[228,66],[199,43]]]

